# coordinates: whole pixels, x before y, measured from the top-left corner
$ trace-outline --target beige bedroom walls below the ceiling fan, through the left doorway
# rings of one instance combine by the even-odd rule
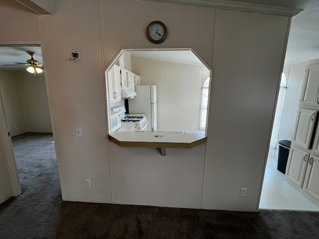
[[[1,71],[0,84],[11,136],[52,132],[44,74]]]

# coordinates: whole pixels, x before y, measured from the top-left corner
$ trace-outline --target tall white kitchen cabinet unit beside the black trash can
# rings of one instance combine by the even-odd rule
[[[319,205],[319,65],[305,73],[286,179]],[[316,126],[317,125],[317,126]],[[316,127],[316,128],[315,128]]]

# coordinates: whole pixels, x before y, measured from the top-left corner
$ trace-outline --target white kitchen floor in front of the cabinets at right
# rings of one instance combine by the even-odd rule
[[[268,156],[260,209],[319,211],[319,207],[284,180],[277,170],[277,160]]]

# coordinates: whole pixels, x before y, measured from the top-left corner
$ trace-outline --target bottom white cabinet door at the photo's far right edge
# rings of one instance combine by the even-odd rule
[[[319,201],[319,157],[310,155],[310,158],[307,160],[306,164],[308,165],[304,190]]]

